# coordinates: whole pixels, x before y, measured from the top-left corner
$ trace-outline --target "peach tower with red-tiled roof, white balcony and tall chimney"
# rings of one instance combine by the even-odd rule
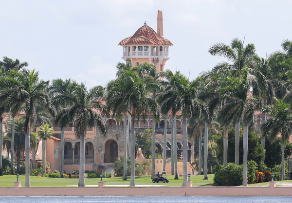
[[[156,66],[156,71],[164,71],[165,62],[169,59],[168,48],[173,44],[163,37],[162,10],[158,10],[157,33],[146,24],[140,27],[133,36],[122,40],[123,57],[133,66],[150,63]]]

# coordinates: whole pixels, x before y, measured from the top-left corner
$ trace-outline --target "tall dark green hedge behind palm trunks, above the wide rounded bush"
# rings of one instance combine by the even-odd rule
[[[247,160],[254,160],[256,163],[262,162],[265,157],[265,149],[260,144],[260,133],[249,130],[248,132],[248,157]],[[243,131],[240,128],[239,131],[239,146],[243,145]],[[218,150],[217,158],[220,163],[223,162],[223,129],[220,129],[218,135],[213,136],[214,142],[217,144]],[[233,126],[229,126],[228,129],[228,162],[235,161],[235,130]],[[280,159],[281,160],[281,159]],[[243,163],[243,147],[239,147],[239,164]]]

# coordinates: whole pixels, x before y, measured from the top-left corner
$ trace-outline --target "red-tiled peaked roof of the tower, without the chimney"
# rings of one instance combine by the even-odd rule
[[[171,41],[157,35],[157,33],[146,24],[146,22],[132,37],[125,38],[119,43],[119,45],[128,44],[173,45]]]

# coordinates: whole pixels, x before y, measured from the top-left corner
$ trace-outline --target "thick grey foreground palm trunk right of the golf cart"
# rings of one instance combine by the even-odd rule
[[[187,123],[186,116],[183,116],[183,186],[187,182]]]

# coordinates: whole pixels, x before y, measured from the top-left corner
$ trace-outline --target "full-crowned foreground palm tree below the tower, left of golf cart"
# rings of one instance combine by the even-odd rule
[[[129,64],[129,63],[128,63]],[[129,64],[130,65],[130,64]],[[139,68],[139,67],[137,67]],[[150,104],[153,99],[146,88],[144,79],[139,77],[137,71],[133,69],[119,70],[118,77],[110,81],[107,86],[107,105],[112,111],[112,115],[120,118],[128,111],[132,124],[130,129],[130,160],[131,179],[130,186],[135,186],[135,118],[146,119],[150,112]],[[139,71],[138,71],[139,72]]]

